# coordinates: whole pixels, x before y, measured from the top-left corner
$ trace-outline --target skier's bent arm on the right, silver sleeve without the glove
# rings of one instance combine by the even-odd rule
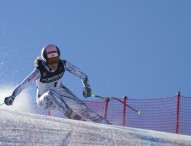
[[[66,60],[63,60],[64,63],[64,67],[67,71],[69,71],[70,73],[72,73],[73,75],[79,77],[84,85],[84,87],[89,87],[90,88],[90,84],[89,84],[89,80],[88,80],[88,76],[83,73],[79,68],[77,68],[76,66],[72,65],[71,63],[69,63]]]

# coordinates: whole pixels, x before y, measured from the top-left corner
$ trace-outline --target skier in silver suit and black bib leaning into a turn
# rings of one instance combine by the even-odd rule
[[[36,102],[40,108],[57,109],[70,119],[110,124],[107,119],[88,108],[62,84],[61,80],[65,71],[81,79],[84,85],[84,97],[91,96],[87,75],[68,61],[62,60],[59,48],[54,44],[49,44],[42,49],[41,57],[35,60],[35,69],[32,73],[15,88],[11,96],[5,97],[4,103],[8,106],[12,105],[16,96],[36,81]]]

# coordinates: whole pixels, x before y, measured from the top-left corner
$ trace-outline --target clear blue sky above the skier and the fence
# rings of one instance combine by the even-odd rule
[[[19,84],[42,47],[54,43],[89,76],[95,94],[191,96],[190,6],[189,0],[1,1],[0,83]],[[66,73],[63,83],[82,97],[78,78]]]

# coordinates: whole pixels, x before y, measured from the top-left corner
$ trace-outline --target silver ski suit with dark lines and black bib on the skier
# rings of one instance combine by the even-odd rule
[[[57,109],[71,119],[109,124],[108,120],[89,109],[62,84],[65,71],[79,77],[85,86],[90,87],[87,75],[68,61],[60,60],[57,70],[52,72],[43,60],[38,59],[38,65],[34,71],[16,87],[12,95],[18,96],[26,87],[36,81],[36,102],[40,108]]]

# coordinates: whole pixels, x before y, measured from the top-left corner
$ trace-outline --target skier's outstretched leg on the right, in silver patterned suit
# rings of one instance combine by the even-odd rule
[[[65,103],[77,114],[83,116],[96,123],[110,124],[109,121],[93,110],[88,108],[79,98],[77,98],[68,88],[61,85],[58,88],[59,92],[62,93],[61,97],[64,98]]]

